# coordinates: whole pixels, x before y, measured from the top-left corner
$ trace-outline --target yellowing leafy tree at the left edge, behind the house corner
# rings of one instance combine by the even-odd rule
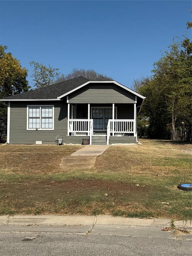
[[[28,70],[22,68],[20,61],[10,52],[7,46],[0,45],[0,98],[14,94],[26,92],[29,89],[26,79]],[[13,87],[12,87],[13,86]],[[0,102],[0,130],[6,133],[7,126],[7,106]]]

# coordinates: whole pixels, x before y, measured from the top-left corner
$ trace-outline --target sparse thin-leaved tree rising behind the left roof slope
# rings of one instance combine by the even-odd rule
[[[50,65],[46,67],[42,63],[34,61],[30,61],[29,64],[33,67],[31,77],[33,78],[33,84],[36,88],[51,85],[60,76],[58,68],[53,68]]]

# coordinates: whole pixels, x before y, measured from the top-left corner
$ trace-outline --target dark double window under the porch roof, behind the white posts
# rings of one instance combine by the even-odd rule
[[[116,110],[116,109],[115,109]],[[110,107],[92,108],[93,130],[105,131],[107,130],[108,120],[113,118],[113,109]],[[115,111],[116,119],[116,111]]]

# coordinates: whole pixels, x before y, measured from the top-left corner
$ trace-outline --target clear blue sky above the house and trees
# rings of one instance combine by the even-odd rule
[[[0,44],[29,70],[29,84],[34,60],[131,87],[186,32],[189,9],[191,1],[0,1]]]

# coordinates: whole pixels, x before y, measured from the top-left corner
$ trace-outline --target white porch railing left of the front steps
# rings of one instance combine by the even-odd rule
[[[76,133],[87,133],[90,136],[90,145],[93,135],[93,119],[69,119],[68,131],[72,136]]]

